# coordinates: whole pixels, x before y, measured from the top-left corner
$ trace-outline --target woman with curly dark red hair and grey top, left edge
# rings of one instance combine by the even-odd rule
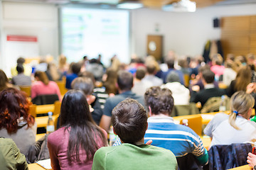
[[[23,91],[7,88],[0,92],[0,136],[11,138],[22,154],[36,141],[35,119],[28,113],[31,104]]]

